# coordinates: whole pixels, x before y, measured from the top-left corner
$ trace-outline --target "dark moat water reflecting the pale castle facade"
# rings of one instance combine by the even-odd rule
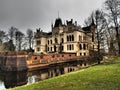
[[[51,65],[43,70],[3,72],[0,71],[0,90],[35,83],[80,69],[76,63]]]

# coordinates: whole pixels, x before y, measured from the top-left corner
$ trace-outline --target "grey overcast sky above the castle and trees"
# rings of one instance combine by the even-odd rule
[[[11,26],[24,31],[51,31],[51,22],[59,16],[62,21],[73,19],[79,25],[90,13],[102,7],[105,0],[0,0],[0,29]]]

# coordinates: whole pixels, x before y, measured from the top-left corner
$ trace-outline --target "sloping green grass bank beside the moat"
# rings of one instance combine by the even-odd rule
[[[120,90],[120,58],[12,90]]]

